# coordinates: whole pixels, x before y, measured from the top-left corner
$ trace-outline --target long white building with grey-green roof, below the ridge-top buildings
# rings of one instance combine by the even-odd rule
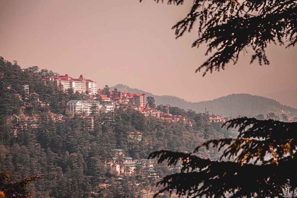
[[[92,113],[91,107],[96,105],[97,110],[101,108],[98,100],[69,100],[67,107],[69,111],[72,111],[74,115],[85,114],[90,115]]]

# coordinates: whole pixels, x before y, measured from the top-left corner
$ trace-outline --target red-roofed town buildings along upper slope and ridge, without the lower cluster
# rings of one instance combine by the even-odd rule
[[[53,81],[54,85],[58,86],[62,91],[71,93],[85,94],[85,100],[69,100],[67,102],[67,110],[72,116],[83,116],[89,119],[88,127],[90,130],[94,129],[94,113],[109,112],[118,108],[132,108],[146,117],[159,119],[168,122],[181,123],[183,125],[192,126],[191,121],[188,121],[182,115],[172,115],[169,112],[170,105],[166,105],[166,111],[160,111],[156,109],[156,102],[153,99],[151,104],[146,101],[146,93],[125,93],[121,91],[109,91],[109,90],[97,90],[97,82],[88,80],[80,75],[78,79],[70,77],[68,74],[61,75],[59,77],[45,77],[42,78],[44,82]],[[28,97],[33,98],[31,102],[26,102],[26,107],[34,108],[48,108],[48,101],[40,101],[38,94],[29,93],[29,85],[24,85],[24,90]],[[151,97],[152,98],[152,97]],[[289,114],[290,112],[280,110],[280,113]],[[209,114],[209,111],[205,108],[205,114]],[[276,116],[278,117],[278,116]],[[232,117],[231,117],[232,118]],[[241,118],[241,116],[237,116]],[[53,121],[61,121],[63,119],[62,114],[51,113],[51,119]],[[209,117],[210,123],[225,123],[226,118],[219,115],[211,115]],[[11,131],[11,137],[18,137],[18,134],[24,133],[28,127],[34,128],[38,126],[39,120],[36,117],[29,116],[15,116],[14,126]]]

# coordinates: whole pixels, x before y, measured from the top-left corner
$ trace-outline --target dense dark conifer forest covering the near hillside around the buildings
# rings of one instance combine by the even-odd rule
[[[21,69],[17,62],[0,57],[0,172],[11,172],[15,180],[42,175],[30,187],[35,197],[139,197],[141,190],[155,191],[156,180],[145,176],[143,166],[126,176],[110,171],[106,163],[112,160],[112,149],[121,148],[126,156],[140,160],[153,151],[192,152],[206,140],[237,135],[221,123],[210,123],[207,113],[172,106],[171,114],[192,124],[119,108],[96,111],[90,127],[90,117],[74,116],[66,108],[70,99],[89,96],[62,92],[52,81],[42,80],[46,76],[59,75],[37,66]],[[165,111],[164,105],[157,108]],[[20,123],[25,120],[28,124],[23,127]],[[141,141],[130,141],[128,132],[141,132]],[[219,157],[212,149],[202,149],[199,155]],[[160,178],[176,171],[162,164],[154,164],[154,169]]]

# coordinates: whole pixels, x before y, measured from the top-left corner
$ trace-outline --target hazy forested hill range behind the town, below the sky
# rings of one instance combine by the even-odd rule
[[[251,94],[231,94],[211,101],[187,102],[176,96],[157,96],[140,89],[129,88],[127,85],[122,84],[110,87],[110,90],[113,90],[113,88],[117,88],[119,91],[126,93],[145,92],[146,96],[152,96],[155,98],[157,105],[170,104],[171,106],[179,107],[186,111],[191,109],[196,113],[203,113],[205,108],[207,108],[210,114],[213,113],[215,115],[222,115],[223,117],[228,117],[229,114],[233,117],[238,115],[254,117],[258,114],[266,115],[268,112],[275,112],[280,115],[280,110],[292,112],[290,116],[297,114],[297,110],[295,108],[280,104],[274,99],[268,99],[262,96],[253,96]]]

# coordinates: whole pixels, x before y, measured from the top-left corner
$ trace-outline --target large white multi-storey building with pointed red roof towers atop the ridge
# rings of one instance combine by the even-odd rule
[[[73,89],[74,93],[78,91],[80,94],[97,94],[97,82],[87,80],[83,75],[80,75],[78,79],[75,79],[69,77],[68,74],[65,74],[64,76],[56,77],[54,82],[57,86],[61,87],[63,91]]]

